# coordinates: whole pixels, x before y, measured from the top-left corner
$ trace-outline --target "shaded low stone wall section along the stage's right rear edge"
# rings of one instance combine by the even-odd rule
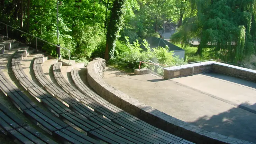
[[[256,82],[256,73],[233,67],[213,64],[212,71]],[[256,71],[255,71],[256,72]]]

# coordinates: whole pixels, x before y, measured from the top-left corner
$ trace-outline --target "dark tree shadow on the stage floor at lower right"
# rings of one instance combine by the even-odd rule
[[[253,108],[256,106],[256,103],[250,105],[245,102],[241,106]],[[211,117],[205,115],[189,123],[203,129],[212,129],[211,132],[256,143],[255,114],[241,111],[239,107],[231,108],[226,112]],[[233,132],[230,133],[230,130]]]

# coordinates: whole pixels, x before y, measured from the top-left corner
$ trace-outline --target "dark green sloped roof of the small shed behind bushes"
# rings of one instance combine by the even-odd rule
[[[149,38],[146,38],[146,40],[148,41],[148,44],[149,44],[149,47],[150,48],[156,48],[156,47],[165,47],[166,45],[169,47],[169,50],[170,51],[173,51],[173,50],[183,50],[182,48],[176,46],[176,45],[173,45],[172,43],[162,39],[162,38],[156,38],[156,37],[149,37]],[[143,42],[142,40],[139,41],[140,44]],[[144,45],[140,45],[140,47],[142,49],[145,49],[145,46]]]

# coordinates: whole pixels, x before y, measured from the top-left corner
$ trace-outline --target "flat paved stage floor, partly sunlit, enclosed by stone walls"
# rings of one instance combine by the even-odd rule
[[[211,132],[256,143],[256,83],[216,73],[172,80],[107,68],[105,81],[140,102]]]

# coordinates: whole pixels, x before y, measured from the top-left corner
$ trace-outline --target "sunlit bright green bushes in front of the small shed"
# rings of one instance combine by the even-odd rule
[[[148,62],[148,60],[152,60],[157,64],[168,66],[187,63],[187,61],[174,57],[173,52],[168,51],[168,47],[150,49],[146,40],[144,40],[143,45],[146,47],[147,51],[143,51],[140,48],[138,40],[134,41],[133,44],[130,44],[128,37],[126,37],[125,44],[117,42],[115,56],[110,59],[110,64],[119,65],[128,69],[137,69],[139,67],[139,63],[137,61]],[[154,65],[142,64],[141,67],[146,67],[155,70],[159,74],[163,74],[163,70]]]

